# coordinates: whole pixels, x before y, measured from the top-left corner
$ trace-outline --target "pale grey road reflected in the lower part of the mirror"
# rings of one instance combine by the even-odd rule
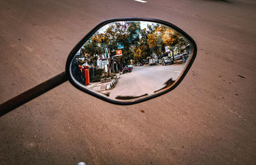
[[[114,89],[110,90],[109,97],[117,96],[138,97],[145,94],[154,94],[162,89],[164,83],[177,80],[184,68],[183,64],[169,66],[134,66],[131,73],[120,75]]]

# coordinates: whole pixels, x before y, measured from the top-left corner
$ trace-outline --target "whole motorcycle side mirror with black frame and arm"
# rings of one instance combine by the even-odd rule
[[[196,43],[179,27],[151,18],[114,18],[84,36],[66,70],[0,104],[0,116],[69,80],[113,104],[135,104],[175,89],[196,57]]]

